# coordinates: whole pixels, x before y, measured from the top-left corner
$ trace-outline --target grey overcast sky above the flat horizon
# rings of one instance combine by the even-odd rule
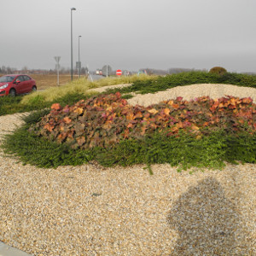
[[[0,67],[256,71],[255,0],[0,0]]]

